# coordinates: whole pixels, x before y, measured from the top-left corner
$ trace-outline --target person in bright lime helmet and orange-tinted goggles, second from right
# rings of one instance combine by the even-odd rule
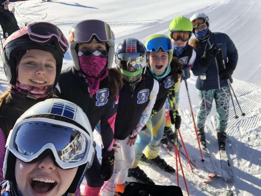
[[[193,65],[196,52],[193,50],[192,46],[189,45],[189,39],[192,35],[193,26],[189,18],[180,16],[174,18],[168,28],[169,36],[171,38],[172,47],[173,47],[173,58],[179,59],[180,63],[182,63],[182,80],[186,80],[190,77],[189,70]],[[178,108],[179,102],[179,94],[177,93],[176,97],[176,105],[175,107]],[[165,112],[166,112],[166,122],[164,127],[164,137],[161,140],[163,144],[167,143],[167,138],[174,143],[175,134],[171,128],[171,119],[169,115],[169,102],[166,99],[165,102]],[[178,128],[178,127],[176,127]],[[166,137],[165,137],[166,135]]]

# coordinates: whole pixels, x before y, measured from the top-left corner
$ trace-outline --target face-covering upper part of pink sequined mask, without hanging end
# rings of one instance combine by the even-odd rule
[[[88,76],[97,77],[108,61],[106,50],[80,50],[78,52],[81,70]]]

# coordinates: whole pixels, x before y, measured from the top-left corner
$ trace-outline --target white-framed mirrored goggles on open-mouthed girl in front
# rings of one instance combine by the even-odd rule
[[[93,142],[86,131],[67,122],[48,121],[50,119],[35,118],[17,123],[6,147],[18,159],[29,163],[40,160],[46,149],[52,151],[56,164],[63,169],[92,163]]]

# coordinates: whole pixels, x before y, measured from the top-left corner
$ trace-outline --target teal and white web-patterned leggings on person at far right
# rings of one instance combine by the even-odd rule
[[[218,127],[217,130],[225,131],[229,117],[229,88],[224,86],[222,88],[213,90],[197,90],[200,98],[200,107],[197,113],[196,124],[200,129],[205,126],[206,117],[209,115],[213,99],[215,99]]]

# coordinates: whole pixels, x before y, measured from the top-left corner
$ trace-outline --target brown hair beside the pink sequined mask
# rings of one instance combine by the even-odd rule
[[[108,79],[111,96],[115,97],[123,86],[122,75],[117,68],[110,68]]]

